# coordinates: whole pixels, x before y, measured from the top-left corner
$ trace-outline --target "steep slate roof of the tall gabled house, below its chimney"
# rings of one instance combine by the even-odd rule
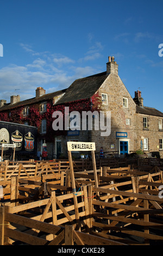
[[[57,101],[57,105],[76,100],[90,99],[108,77],[105,72],[75,80]]]

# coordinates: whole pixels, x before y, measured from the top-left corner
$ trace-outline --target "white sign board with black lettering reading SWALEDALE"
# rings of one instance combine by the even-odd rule
[[[67,142],[68,151],[92,151],[96,150],[95,142]]]

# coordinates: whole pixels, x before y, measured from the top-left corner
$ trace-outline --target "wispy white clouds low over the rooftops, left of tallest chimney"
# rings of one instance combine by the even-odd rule
[[[30,45],[21,44],[21,47],[31,53],[32,62],[24,66],[11,64],[0,69],[0,99],[7,102],[10,102],[10,96],[17,94],[20,95],[21,100],[35,97],[35,90],[39,86],[46,89],[46,93],[55,92],[69,87],[78,78],[101,72],[88,65],[82,67],[72,65],[75,61],[61,54],[49,52],[36,54]],[[99,49],[102,49],[102,45],[97,42],[89,49],[92,53],[86,54],[84,59],[100,58]]]

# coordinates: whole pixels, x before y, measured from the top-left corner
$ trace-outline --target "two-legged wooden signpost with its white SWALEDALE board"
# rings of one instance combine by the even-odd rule
[[[68,150],[68,160],[70,163],[70,175],[72,182],[72,192],[74,198],[74,207],[76,212],[76,220],[78,223],[77,230],[80,230],[79,223],[79,211],[78,211],[78,202],[77,202],[77,191],[76,191],[76,182],[74,179],[74,170],[73,170],[73,161],[71,151],[91,151],[92,154],[92,163],[93,163],[93,173],[95,176],[95,185],[98,187],[98,179],[97,179],[97,170],[96,170],[96,160],[95,160],[95,142],[67,142],[67,150]],[[99,192],[97,192],[99,193]],[[97,194],[98,195],[98,194]]]

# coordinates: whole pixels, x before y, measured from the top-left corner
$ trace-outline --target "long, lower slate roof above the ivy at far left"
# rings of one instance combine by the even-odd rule
[[[47,94],[44,94],[42,96],[33,97],[32,99],[18,101],[14,104],[7,103],[7,104],[5,104],[4,106],[2,106],[0,108],[0,112],[4,111],[4,110],[7,110],[7,109],[15,108],[15,107],[27,106],[27,105],[34,104],[34,103],[37,103],[37,102],[43,102],[43,101],[46,101],[46,100],[49,100],[49,99],[53,99],[53,97],[56,97],[56,96],[59,96],[59,95],[65,93],[66,90],[67,89],[63,89],[63,90],[59,90],[59,91],[54,92],[54,93],[47,93]]]

